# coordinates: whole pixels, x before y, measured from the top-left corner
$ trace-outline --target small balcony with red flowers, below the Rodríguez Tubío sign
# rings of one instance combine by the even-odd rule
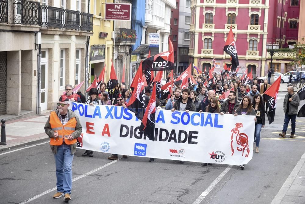
[[[135,30],[128,28],[116,28],[116,45],[134,45],[137,35]]]

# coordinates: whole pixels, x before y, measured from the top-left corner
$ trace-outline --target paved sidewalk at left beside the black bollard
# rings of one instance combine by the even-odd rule
[[[48,117],[49,113],[46,113],[5,122],[6,145],[0,145],[0,152],[48,141],[44,130]]]

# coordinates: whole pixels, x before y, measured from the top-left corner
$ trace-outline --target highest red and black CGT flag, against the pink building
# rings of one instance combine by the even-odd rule
[[[239,62],[232,27],[230,27],[227,41],[224,44],[224,52],[231,56],[232,71],[235,71]]]

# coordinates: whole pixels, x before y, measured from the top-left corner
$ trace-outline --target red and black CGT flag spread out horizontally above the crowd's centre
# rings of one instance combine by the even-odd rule
[[[174,47],[169,39],[169,48],[167,52],[159,53],[155,56],[149,57],[143,61],[143,70],[145,71],[163,71],[174,69]]]

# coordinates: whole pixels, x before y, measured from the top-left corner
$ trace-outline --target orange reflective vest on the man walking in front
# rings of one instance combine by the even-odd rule
[[[71,133],[73,133],[75,131],[75,126],[76,126],[76,119],[75,118],[71,118],[65,125],[63,125],[56,112],[52,111],[50,114],[50,125],[52,130],[55,132],[58,132],[58,138],[51,138],[50,139],[50,144],[51,145],[62,145],[63,144],[63,137],[68,137]],[[73,140],[65,140],[66,144],[74,144],[76,143],[77,140],[73,139]]]

